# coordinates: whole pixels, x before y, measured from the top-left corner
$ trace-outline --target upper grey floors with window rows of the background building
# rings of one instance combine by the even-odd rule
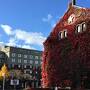
[[[5,52],[8,57],[8,60],[6,61],[8,68],[37,68],[41,65],[42,51],[11,46],[3,47],[2,51]]]

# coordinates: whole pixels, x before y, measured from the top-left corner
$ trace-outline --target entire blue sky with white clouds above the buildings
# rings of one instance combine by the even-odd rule
[[[0,0],[0,43],[43,50],[43,41],[70,0]],[[90,8],[90,0],[77,0]]]

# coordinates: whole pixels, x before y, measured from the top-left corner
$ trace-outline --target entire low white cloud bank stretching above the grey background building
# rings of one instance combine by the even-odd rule
[[[41,32],[27,32],[22,29],[13,29],[9,25],[1,25],[4,32],[9,35],[6,45],[35,49],[31,46],[43,46],[46,37]],[[23,43],[20,43],[23,42]]]

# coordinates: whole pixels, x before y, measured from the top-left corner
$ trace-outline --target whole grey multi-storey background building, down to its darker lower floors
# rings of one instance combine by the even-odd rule
[[[26,78],[24,84],[31,80],[33,87],[40,85],[42,51],[4,46],[1,48],[1,52],[3,52],[0,54],[1,66],[5,63],[9,71],[20,70],[24,79]],[[3,55],[6,58],[3,58]]]

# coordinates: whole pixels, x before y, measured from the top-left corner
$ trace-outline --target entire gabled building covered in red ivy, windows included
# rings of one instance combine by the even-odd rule
[[[44,42],[42,84],[90,88],[90,9],[71,3]]]

